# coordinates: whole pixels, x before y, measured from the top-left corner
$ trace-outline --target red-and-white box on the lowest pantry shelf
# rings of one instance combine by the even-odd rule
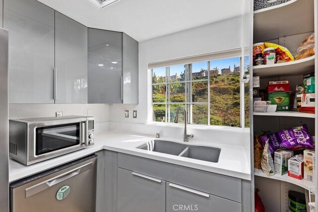
[[[304,176],[304,156],[295,155],[288,160],[288,176],[303,179]]]

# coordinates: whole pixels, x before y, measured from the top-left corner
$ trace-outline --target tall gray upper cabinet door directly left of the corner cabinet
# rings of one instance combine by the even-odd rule
[[[55,103],[87,103],[87,27],[55,11]]]

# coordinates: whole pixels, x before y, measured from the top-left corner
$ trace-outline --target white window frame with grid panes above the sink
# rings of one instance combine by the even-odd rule
[[[242,56],[243,55],[243,56]],[[249,56],[244,54],[244,52],[241,51],[241,49],[231,49],[231,50],[226,50],[226,51],[220,51],[220,52],[215,52],[215,53],[208,53],[208,54],[202,54],[202,55],[195,55],[195,56],[190,56],[190,57],[183,57],[183,58],[176,58],[176,59],[171,59],[171,60],[164,60],[164,61],[158,61],[158,62],[152,62],[148,64],[148,83],[150,86],[148,86],[150,89],[148,90],[149,93],[149,98],[148,98],[148,122],[147,124],[150,125],[160,125],[160,126],[181,126],[183,124],[175,124],[175,123],[169,123],[169,120],[167,120],[170,115],[168,114],[170,110],[168,110],[168,104],[171,104],[170,102],[168,103],[168,98],[167,98],[167,90],[168,90],[168,77],[170,76],[168,67],[170,66],[176,66],[176,65],[183,65],[183,64],[188,64],[190,65],[190,73],[189,76],[192,77],[192,64],[197,63],[197,62],[207,62],[208,63],[208,70],[210,70],[210,61],[213,60],[221,60],[221,59],[227,59],[227,58],[235,58],[239,57],[240,58],[240,73],[239,77],[242,79],[242,76],[244,75],[244,58],[245,56]],[[164,103],[153,103],[153,69],[154,68],[162,68],[165,67],[166,69],[166,77],[165,77],[165,82],[164,83],[158,83],[158,84],[165,84],[166,85],[166,92],[165,92],[165,98],[166,101]],[[210,87],[210,71],[208,72],[208,79],[203,79],[203,80],[185,80],[185,81],[177,81],[177,82],[169,82],[169,83],[185,83],[185,95],[186,95],[186,85],[187,83],[192,83],[196,81],[207,81],[208,82],[208,88]],[[158,85],[156,83],[156,85]],[[192,86],[191,86],[192,87]],[[190,98],[192,97],[192,89],[190,91]],[[197,125],[197,124],[192,124],[192,113],[191,111],[188,111],[188,123],[190,123],[188,126],[190,128],[197,128],[197,129],[217,129],[217,130],[241,130],[245,128],[245,107],[244,107],[244,83],[240,81],[240,127],[231,127],[231,126],[217,126],[217,125],[210,125],[211,117],[210,117],[210,112],[211,108],[210,106],[210,97],[211,97],[211,89],[208,89],[208,102],[192,102],[191,99],[189,100],[190,105],[193,104],[208,104],[208,125]],[[185,97],[186,98],[186,97]],[[186,100],[186,99],[185,99]],[[173,102],[172,104],[189,104],[189,102]],[[153,104],[165,104],[165,121],[166,122],[157,122],[153,121]],[[187,108],[188,110],[188,108]],[[190,108],[191,110],[191,108]],[[246,128],[245,128],[246,129]]]

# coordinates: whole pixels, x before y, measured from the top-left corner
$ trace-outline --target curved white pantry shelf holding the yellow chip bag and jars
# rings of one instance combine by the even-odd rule
[[[315,55],[298,61],[253,66],[253,76],[295,76],[315,71]]]

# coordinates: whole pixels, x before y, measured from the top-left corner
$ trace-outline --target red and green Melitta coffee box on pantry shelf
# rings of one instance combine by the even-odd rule
[[[290,110],[290,86],[289,81],[268,82],[268,100],[277,105],[276,111]]]

